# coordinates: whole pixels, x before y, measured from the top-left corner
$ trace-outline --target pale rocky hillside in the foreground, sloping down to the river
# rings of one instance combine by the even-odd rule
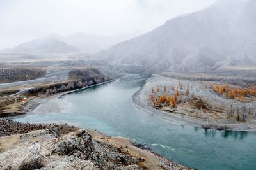
[[[54,124],[26,134],[0,137],[0,169],[189,168],[139,148],[131,139]]]

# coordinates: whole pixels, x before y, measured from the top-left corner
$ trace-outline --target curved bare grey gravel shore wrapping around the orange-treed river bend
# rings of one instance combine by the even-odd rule
[[[232,122],[227,120],[221,120],[219,122],[209,122],[207,118],[199,118],[189,116],[187,109],[181,108],[177,111],[163,111],[157,110],[152,106],[152,102],[149,97],[152,87],[161,85],[166,85],[166,87],[171,87],[173,81],[176,83],[179,80],[173,80],[172,78],[166,78],[163,76],[155,75],[149,78],[143,87],[141,87],[138,92],[132,96],[132,102],[136,108],[146,111],[148,113],[153,113],[156,117],[162,118],[163,120],[170,121],[175,124],[181,125],[192,125],[195,127],[204,127],[206,129],[220,129],[220,130],[234,130],[234,131],[256,131],[255,122]]]

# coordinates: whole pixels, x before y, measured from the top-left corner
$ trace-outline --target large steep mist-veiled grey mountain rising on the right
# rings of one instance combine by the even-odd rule
[[[256,64],[256,1],[220,0],[97,53],[114,66],[207,71]]]

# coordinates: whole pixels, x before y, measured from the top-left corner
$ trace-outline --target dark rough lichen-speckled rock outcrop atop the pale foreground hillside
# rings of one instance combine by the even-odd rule
[[[93,141],[85,130],[68,134],[52,141],[52,153],[90,160],[97,167],[117,168],[122,165],[137,164],[138,159],[120,153],[118,148],[99,141]]]

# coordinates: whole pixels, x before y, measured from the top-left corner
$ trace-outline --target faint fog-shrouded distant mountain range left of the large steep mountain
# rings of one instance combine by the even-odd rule
[[[128,33],[116,36],[99,36],[83,32],[68,36],[51,34],[22,43],[15,48],[0,50],[0,53],[99,52],[131,37],[132,34]]]

